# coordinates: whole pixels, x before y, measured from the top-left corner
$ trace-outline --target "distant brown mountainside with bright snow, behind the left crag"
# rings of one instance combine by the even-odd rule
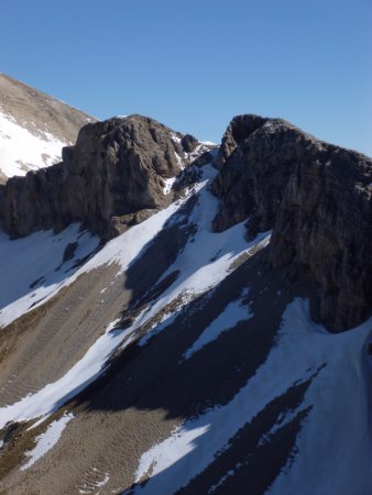
[[[0,178],[61,162],[62,148],[95,119],[0,74]]]

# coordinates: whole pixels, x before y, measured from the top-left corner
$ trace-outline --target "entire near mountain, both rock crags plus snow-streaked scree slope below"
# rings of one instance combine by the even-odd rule
[[[0,186],[0,488],[372,493],[372,160],[142,116]]]

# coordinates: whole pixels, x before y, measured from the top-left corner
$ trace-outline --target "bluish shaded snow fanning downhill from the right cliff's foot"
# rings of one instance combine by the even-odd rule
[[[284,314],[277,345],[236,397],[227,406],[184,422],[168,439],[142,455],[136,482],[151,477],[134,493],[167,495],[186,486],[221,455],[229,439],[271,400],[295,382],[316,374],[299,408],[311,406],[295,462],[287,465],[267,494],[296,494],[299,486],[304,495],[370,494],[371,365],[368,370],[364,360],[371,326],[369,320],[347,333],[329,334],[310,320],[307,301],[296,299]],[[291,415],[283,418],[284,422],[289,420]],[[232,474],[221,479],[221,484]]]

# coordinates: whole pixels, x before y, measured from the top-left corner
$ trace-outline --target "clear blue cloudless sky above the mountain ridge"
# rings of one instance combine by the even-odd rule
[[[372,155],[372,0],[2,0],[0,72],[219,142],[283,117]]]

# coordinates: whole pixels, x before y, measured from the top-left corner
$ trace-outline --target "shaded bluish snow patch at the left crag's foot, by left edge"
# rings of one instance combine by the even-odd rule
[[[73,257],[63,262],[73,243],[77,243]],[[74,264],[98,244],[99,239],[79,232],[77,223],[57,235],[52,230],[40,231],[15,241],[0,232],[0,329],[55,295],[72,279],[77,270]]]

